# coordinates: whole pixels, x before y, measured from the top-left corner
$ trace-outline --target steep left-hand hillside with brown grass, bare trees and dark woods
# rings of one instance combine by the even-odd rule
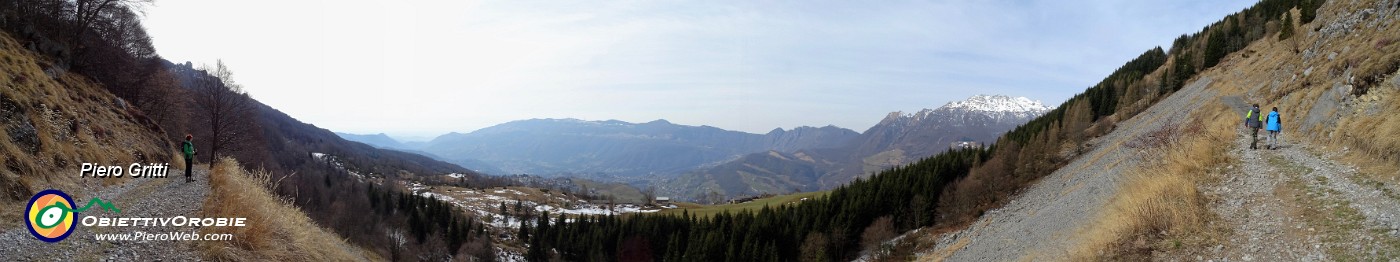
[[[148,3],[0,1],[0,28],[18,42],[11,49],[4,41],[7,63],[14,64],[7,69],[15,70],[4,78],[3,119],[14,123],[6,127],[10,140],[31,147],[22,154],[7,150],[17,154],[6,154],[10,171],[0,177],[6,206],[35,189],[67,184],[46,174],[71,174],[76,161],[167,161],[174,144],[193,135],[200,164],[232,157],[246,170],[272,174],[280,198],[384,258],[496,258],[483,223],[452,205],[402,192],[396,181],[462,174],[456,184],[489,186],[505,179],[346,142],[252,99],[223,63],[169,63],[141,25],[139,14]],[[316,161],[314,153],[342,161]]]

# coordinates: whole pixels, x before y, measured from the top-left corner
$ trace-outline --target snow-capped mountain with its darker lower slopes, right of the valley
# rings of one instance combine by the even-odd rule
[[[909,164],[962,140],[991,140],[1050,108],[1023,97],[974,95],[937,109],[890,112],[840,147],[764,151],[655,184],[665,195],[699,199],[819,191]]]

